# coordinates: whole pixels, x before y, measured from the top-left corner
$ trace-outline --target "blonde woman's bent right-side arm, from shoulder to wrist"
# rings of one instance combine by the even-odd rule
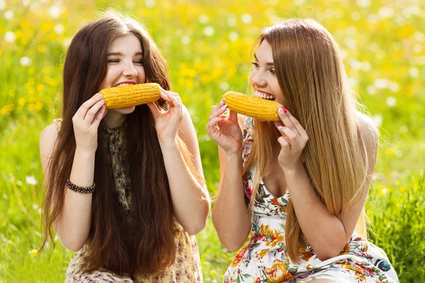
[[[288,117],[290,117],[289,112]],[[290,120],[293,119],[290,117]],[[283,121],[285,122],[285,119]],[[297,163],[297,166],[293,168],[283,168],[302,233],[320,260],[333,258],[344,248],[353,234],[370,187],[378,152],[378,130],[370,120],[362,118],[361,121],[363,123],[361,134],[365,140],[368,154],[368,178],[365,183],[365,194],[361,201],[355,207],[348,209],[344,215],[334,216],[327,211],[312,187],[302,163]],[[293,122],[296,125],[294,120]],[[285,125],[287,125],[286,122]],[[290,132],[285,132],[285,134],[290,137]],[[292,143],[294,140],[290,142]]]

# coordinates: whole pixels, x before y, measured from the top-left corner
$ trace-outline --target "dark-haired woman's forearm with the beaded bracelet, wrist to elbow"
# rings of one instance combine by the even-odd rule
[[[69,180],[81,187],[90,187],[94,180],[94,155],[75,151]],[[79,250],[86,243],[91,225],[92,194],[74,192],[66,187],[62,214],[55,230],[62,245],[69,250]]]

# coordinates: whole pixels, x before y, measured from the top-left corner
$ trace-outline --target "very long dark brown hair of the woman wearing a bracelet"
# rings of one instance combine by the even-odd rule
[[[169,90],[166,61],[145,28],[128,16],[104,13],[77,33],[72,40],[64,64],[62,127],[48,164],[50,178],[42,203],[44,238],[53,242],[52,225],[62,213],[64,186],[72,169],[76,142],[72,117],[82,103],[98,92],[106,76],[106,54],[113,39],[135,35],[141,42],[147,82],[159,83]],[[168,109],[164,100],[157,105]],[[82,272],[104,268],[118,275],[163,272],[175,260],[174,216],[169,181],[159,146],[154,119],[147,105],[140,105],[128,115],[125,127],[123,165],[132,190],[131,224],[115,192],[108,149],[102,137],[106,125],[98,129],[91,209],[91,229],[86,243]],[[193,159],[178,138],[183,157],[196,178]],[[40,250],[42,249],[40,248]]]

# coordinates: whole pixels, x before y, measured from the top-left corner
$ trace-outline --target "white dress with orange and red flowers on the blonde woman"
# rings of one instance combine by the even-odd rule
[[[252,148],[253,120],[242,117],[244,129],[243,164]],[[246,121],[246,122],[243,122]],[[244,124],[244,125],[243,125]],[[255,167],[244,178],[244,195],[249,202],[254,189]],[[230,263],[227,282],[308,282],[330,279],[336,282],[399,282],[384,251],[354,231],[341,253],[319,260],[311,246],[300,249],[300,264],[292,262],[285,248],[285,209],[290,195],[275,197],[261,181],[254,202],[254,219],[249,241]]]

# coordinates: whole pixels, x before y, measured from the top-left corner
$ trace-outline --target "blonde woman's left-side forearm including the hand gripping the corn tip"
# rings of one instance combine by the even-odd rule
[[[208,135],[218,144],[220,158],[220,185],[212,223],[222,246],[236,251],[249,235],[251,219],[242,183],[242,131],[236,112],[220,117],[225,110],[222,101],[211,110],[207,124]]]

